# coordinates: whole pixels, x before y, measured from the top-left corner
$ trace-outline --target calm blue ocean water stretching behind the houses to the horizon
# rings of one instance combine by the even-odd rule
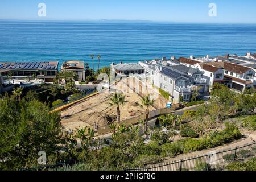
[[[100,54],[103,67],[121,60],[248,51],[256,52],[255,24],[0,22],[0,61],[84,60],[91,65],[89,55]]]

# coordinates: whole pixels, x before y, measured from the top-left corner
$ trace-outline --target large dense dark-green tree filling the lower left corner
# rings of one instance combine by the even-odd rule
[[[47,156],[60,150],[59,113],[38,100],[0,100],[0,169],[16,170],[38,164],[38,152]]]

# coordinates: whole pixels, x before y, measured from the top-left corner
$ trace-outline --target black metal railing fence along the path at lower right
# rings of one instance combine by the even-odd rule
[[[224,171],[225,167],[233,162],[246,162],[256,156],[256,143],[226,150],[212,151],[207,154],[190,158],[173,160],[169,163],[160,163],[147,167],[125,169],[126,171]]]

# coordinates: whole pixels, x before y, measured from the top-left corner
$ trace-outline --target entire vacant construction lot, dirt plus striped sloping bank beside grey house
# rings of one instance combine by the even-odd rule
[[[145,109],[141,106],[143,96],[149,94],[155,100],[154,107],[150,107],[150,111],[162,109],[166,107],[168,102],[150,84],[146,84],[135,77],[129,77],[114,84],[114,90],[102,90],[96,96],[61,111],[61,124],[65,130],[76,130],[86,126],[93,127],[94,122],[98,123],[99,127],[105,127],[109,123],[115,122],[117,120],[116,107],[110,106],[110,97],[115,92],[122,92],[127,101],[120,107],[121,121],[145,113]]]

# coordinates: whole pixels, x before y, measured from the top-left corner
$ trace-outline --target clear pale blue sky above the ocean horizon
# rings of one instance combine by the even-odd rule
[[[46,4],[43,18],[40,2]],[[209,3],[216,3],[217,17],[209,17]],[[255,7],[255,0],[1,0],[0,19],[256,23]]]

